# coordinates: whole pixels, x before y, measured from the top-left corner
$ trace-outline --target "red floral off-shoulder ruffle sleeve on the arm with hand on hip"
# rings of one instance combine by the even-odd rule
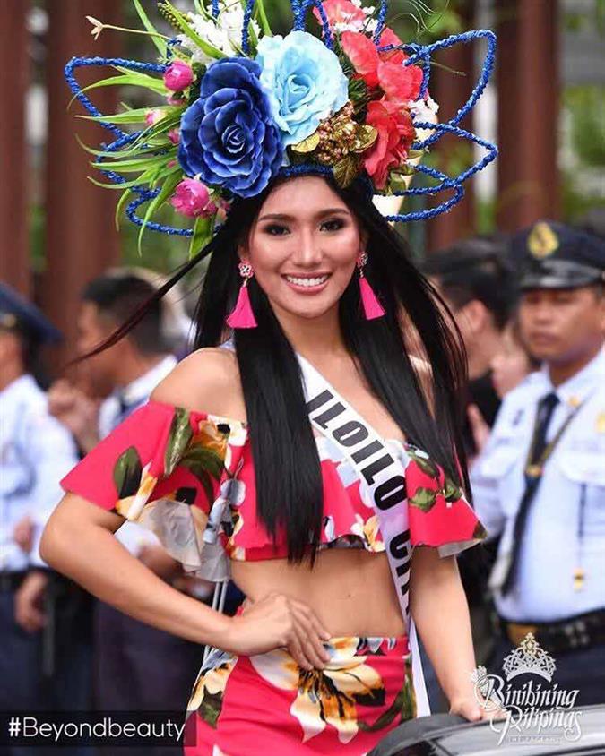
[[[233,459],[230,428],[212,416],[150,401],[61,481],[108,511],[150,528],[186,571],[203,577],[204,531]],[[207,572],[207,571],[206,571]]]

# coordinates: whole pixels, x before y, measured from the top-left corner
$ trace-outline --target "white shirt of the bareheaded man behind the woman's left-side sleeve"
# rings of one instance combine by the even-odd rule
[[[177,365],[177,357],[172,355],[164,357],[158,365],[152,367],[147,373],[129,383],[121,391],[114,391],[111,396],[105,399],[99,410],[100,437],[105,438],[126,417],[122,417],[120,396],[131,408],[130,411],[134,411],[134,408],[143,405],[149,399],[151,391],[166,378],[175,365]],[[130,521],[126,521],[117,529],[116,537],[134,556],[141,553],[143,546],[158,546],[160,544],[160,540],[151,530],[142,528],[136,522]]]

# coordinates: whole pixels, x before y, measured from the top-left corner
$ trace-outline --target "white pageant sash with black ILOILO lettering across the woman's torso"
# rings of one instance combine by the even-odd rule
[[[330,438],[367,484],[397,592],[411,652],[417,716],[430,714],[416,627],[410,614],[411,539],[405,468],[371,425],[359,417],[305,357],[297,355],[311,424]]]

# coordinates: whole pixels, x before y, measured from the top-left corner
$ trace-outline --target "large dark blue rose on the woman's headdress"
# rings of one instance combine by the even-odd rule
[[[253,197],[277,174],[283,149],[260,71],[255,61],[233,57],[205,73],[199,99],[181,118],[178,162],[187,176]]]

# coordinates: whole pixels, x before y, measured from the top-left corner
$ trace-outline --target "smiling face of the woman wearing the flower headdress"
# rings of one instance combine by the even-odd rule
[[[301,176],[267,197],[239,256],[278,316],[310,319],[338,305],[364,246],[338,194],[319,176]]]

